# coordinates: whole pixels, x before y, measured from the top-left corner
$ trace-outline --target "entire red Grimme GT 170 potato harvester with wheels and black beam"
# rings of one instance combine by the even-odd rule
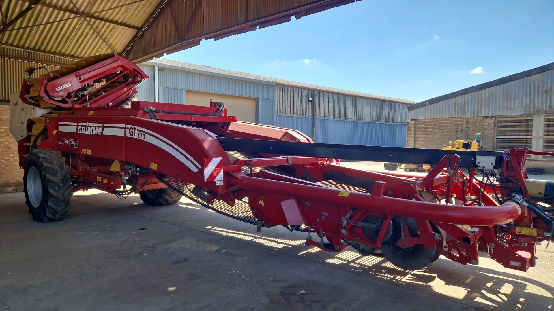
[[[552,208],[537,202],[551,203],[554,186],[528,180],[526,156],[538,153],[526,148],[454,154],[314,143],[293,129],[238,122],[220,102],[133,101],[148,76],[121,56],[38,77],[35,70],[26,70],[17,108],[30,117],[12,124],[23,127],[14,136],[37,221],[63,219],[71,194],[83,189],[139,193],[150,205],[184,195],[258,231],[308,232],[306,245],[325,251],[381,250],[403,269],[440,255],[478,265],[481,251],[526,271],[537,243],[552,236]],[[435,167],[427,175],[381,172],[331,164],[337,158]]]

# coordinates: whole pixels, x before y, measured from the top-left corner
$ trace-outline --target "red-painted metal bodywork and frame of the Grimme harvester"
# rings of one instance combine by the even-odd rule
[[[114,70],[136,72],[140,68],[116,57],[53,81],[43,79],[41,94],[65,81],[82,86]],[[136,192],[165,188],[157,179],[162,174],[209,190],[209,202],[222,200],[233,205],[235,198],[248,198],[252,214],[266,227],[305,225],[321,239],[326,237],[332,247],[311,239],[306,245],[325,251],[348,247],[343,239],[379,248],[389,223],[397,216],[411,217],[417,223],[418,236],[411,236],[408,227],[404,227],[404,236],[396,242],[401,248],[437,245],[437,256],[443,255],[463,265],[478,263],[478,248],[489,251],[505,267],[525,271],[535,264],[534,251],[536,242],[542,239],[542,230],[537,236],[520,235],[511,230],[503,240],[497,235],[499,226],[512,222],[533,226],[537,221],[534,215],[511,200],[497,203],[491,196],[490,186],[482,187],[479,180],[461,172],[456,154],[447,155],[423,176],[351,169],[329,164],[333,159],[294,155],[261,154],[259,158],[233,161],[217,136],[312,140],[291,129],[237,122],[213,102],[210,107],[145,101],[132,102],[129,108],[112,105],[114,98],[130,96],[131,92],[114,89],[90,101],[89,107],[79,105],[47,122],[48,138],[39,148],[55,149],[66,157],[76,183],[75,191],[96,187],[114,193],[128,183],[129,177],[137,178]],[[52,95],[60,94],[53,92]],[[58,101],[45,101],[68,107]],[[145,110],[158,111],[157,120],[151,120],[152,116]],[[19,141],[22,166],[24,155],[29,152],[25,145],[28,142],[29,137]],[[505,185],[524,184],[525,156],[526,149],[506,151],[502,177],[509,178],[509,182]],[[218,157],[223,161],[223,180],[205,182],[204,159]],[[119,161],[120,168],[112,172],[110,167],[115,161]],[[288,175],[252,169],[274,166],[284,167]],[[243,173],[243,168],[249,169],[248,173]],[[471,170],[470,175],[475,173]],[[326,180],[345,184],[346,190],[320,184]],[[502,189],[501,195],[509,199],[510,191]],[[451,196],[457,204],[450,203]],[[484,206],[470,202],[470,198],[476,197]],[[440,200],[445,204],[438,204]],[[370,215],[383,220],[375,240],[365,236],[356,225]]]

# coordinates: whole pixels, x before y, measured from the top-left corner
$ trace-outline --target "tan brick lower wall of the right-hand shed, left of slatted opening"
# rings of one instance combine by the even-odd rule
[[[442,149],[455,139],[473,139],[483,134],[483,144],[494,150],[495,117],[464,117],[410,120],[406,147]]]

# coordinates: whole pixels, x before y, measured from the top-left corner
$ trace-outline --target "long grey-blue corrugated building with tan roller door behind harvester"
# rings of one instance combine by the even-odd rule
[[[321,143],[404,147],[413,101],[154,59],[138,99],[188,105],[225,103],[240,121],[298,129]]]

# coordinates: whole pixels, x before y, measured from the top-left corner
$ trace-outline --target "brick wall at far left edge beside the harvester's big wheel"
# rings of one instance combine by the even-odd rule
[[[0,105],[0,193],[23,190],[17,142],[9,133],[9,106]]]

